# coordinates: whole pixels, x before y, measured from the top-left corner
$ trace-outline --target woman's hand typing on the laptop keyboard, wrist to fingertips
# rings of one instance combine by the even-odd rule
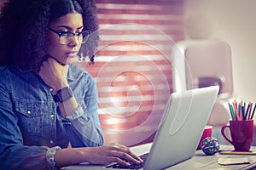
[[[142,163],[143,160],[133,153],[128,147],[120,144],[112,146],[99,146],[96,148],[88,148],[90,154],[86,153],[86,161],[90,164],[109,164],[117,162],[123,166]],[[88,157],[87,157],[88,156]]]

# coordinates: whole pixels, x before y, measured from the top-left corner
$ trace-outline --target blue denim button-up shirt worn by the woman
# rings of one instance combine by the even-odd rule
[[[75,65],[67,82],[79,107],[63,117],[37,73],[0,67],[0,169],[48,169],[46,153],[55,146],[102,145],[96,83]]]

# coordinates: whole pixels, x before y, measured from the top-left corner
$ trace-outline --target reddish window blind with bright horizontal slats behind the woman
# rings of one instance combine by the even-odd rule
[[[96,0],[100,42],[95,77],[105,143],[154,137],[172,93],[174,42],[183,40],[181,0]]]

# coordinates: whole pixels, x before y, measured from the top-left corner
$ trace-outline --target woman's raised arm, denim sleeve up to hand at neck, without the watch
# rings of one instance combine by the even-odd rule
[[[67,83],[67,71],[69,65],[60,65],[55,59],[44,61],[40,68],[39,76],[49,87],[57,91],[69,87]],[[73,68],[70,68],[73,69]],[[74,68],[75,69],[75,68]],[[96,85],[90,75],[79,74],[79,80],[75,80],[78,88],[76,93],[81,93],[83,101],[77,101],[73,96],[63,103],[58,102],[61,115],[65,119],[64,127],[70,135],[73,147],[99,146],[103,144],[102,130],[97,115]],[[78,86],[78,87],[77,87]],[[86,86],[87,90],[84,90]],[[71,89],[74,90],[74,89]]]

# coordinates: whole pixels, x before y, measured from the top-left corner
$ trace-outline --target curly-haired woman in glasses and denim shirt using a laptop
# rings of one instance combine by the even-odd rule
[[[0,18],[0,169],[140,163],[104,146],[96,84],[71,62],[93,54],[92,0],[10,0]],[[67,147],[68,144],[72,147]]]

